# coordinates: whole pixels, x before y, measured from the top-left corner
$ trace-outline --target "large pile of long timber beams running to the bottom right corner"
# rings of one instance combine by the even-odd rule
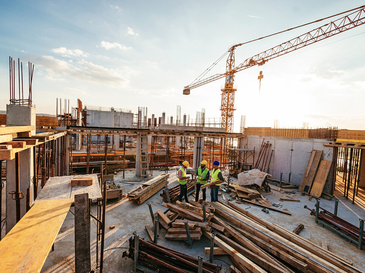
[[[232,236],[228,238],[217,232],[215,244],[228,254],[241,272],[361,272],[344,258],[232,202],[210,205],[215,207],[213,219]],[[203,231],[203,234],[211,237],[209,232]]]

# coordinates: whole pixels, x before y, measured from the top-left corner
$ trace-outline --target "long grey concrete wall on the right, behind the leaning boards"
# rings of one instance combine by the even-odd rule
[[[264,138],[264,142],[269,141],[269,144],[272,144],[270,151],[274,150],[270,162],[270,174],[273,175],[273,178],[280,179],[280,173],[283,173],[283,181],[285,182],[288,181],[289,173],[291,172],[290,182],[300,185],[312,150],[322,150],[323,154],[321,159],[333,160],[333,147],[323,146],[323,143],[328,143],[325,139],[247,135],[247,148],[255,148],[255,162],[257,161],[261,143]],[[243,140],[243,142],[244,141],[245,140]],[[252,162],[252,158],[249,158],[248,162]],[[331,166],[326,184],[324,185],[324,191],[327,193],[330,193],[332,170],[333,166]]]

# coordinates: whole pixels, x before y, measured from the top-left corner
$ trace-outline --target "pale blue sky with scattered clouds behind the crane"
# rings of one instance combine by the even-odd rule
[[[0,110],[9,100],[9,56],[35,65],[38,113],[56,98],[84,104],[148,107],[176,117],[206,109],[220,117],[224,79],[183,87],[230,46],[359,7],[360,1],[1,1]],[[235,50],[236,65],[331,19]],[[334,19],[332,19],[334,20]],[[364,129],[365,25],[236,74],[234,130],[274,125]],[[206,76],[224,73],[223,59]],[[264,79],[257,76],[263,71]],[[27,74],[27,70],[24,70]],[[27,80],[26,80],[27,82]],[[25,86],[27,87],[27,85]],[[63,103],[64,100],[62,100]]]

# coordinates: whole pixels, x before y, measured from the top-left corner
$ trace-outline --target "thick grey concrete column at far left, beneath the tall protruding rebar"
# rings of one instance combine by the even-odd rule
[[[6,107],[7,126],[35,126],[35,108],[31,106],[8,104]],[[31,131],[32,135],[35,130]],[[33,148],[19,152],[20,191],[24,198],[20,200],[20,217],[26,213],[26,193],[30,187],[30,203],[34,201],[33,194]],[[6,162],[6,233],[16,224],[15,200],[10,191],[15,191],[15,159]]]

